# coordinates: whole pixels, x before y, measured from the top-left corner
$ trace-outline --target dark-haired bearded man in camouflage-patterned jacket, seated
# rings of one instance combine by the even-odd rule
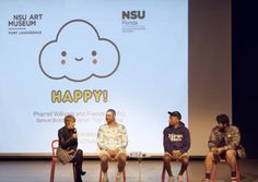
[[[210,182],[212,162],[225,159],[231,168],[232,182],[237,182],[236,178],[236,149],[239,147],[241,134],[239,130],[230,125],[230,119],[222,113],[216,116],[218,125],[211,131],[208,146],[208,153],[204,161],[206,179],[202,182]]]

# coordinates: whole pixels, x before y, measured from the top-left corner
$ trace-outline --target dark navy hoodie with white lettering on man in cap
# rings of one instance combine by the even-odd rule
[[[169,125],[163,131],[163,146],[164,150],[172,153],[173,150],[180,150],[181,154],[187,153],[190,148],[189,130],[180,121],[179,126]]]

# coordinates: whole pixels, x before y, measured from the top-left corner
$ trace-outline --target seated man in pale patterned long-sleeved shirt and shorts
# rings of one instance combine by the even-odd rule
[[[101,158],[101,167],[104,173],[102,182],[108,182],[108,160],[118,160],[116,182],[120,182],[127,159],[127,131],[122,124],[116,122],[116,111],[114,109],[106,111],[106,122],[99,126],[97,133],[98,157]]]

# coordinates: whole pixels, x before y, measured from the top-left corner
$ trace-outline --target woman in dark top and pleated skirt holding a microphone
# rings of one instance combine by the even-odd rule
[[[59,147],[57,157],[63,163],[73,162],[77,171],[77,182],[82,182],[81,175],[86,172],[82,170],[83,151],[78,148],[78,135],[75,118],[67,116],[64,118],[64,126],[58,130]]]

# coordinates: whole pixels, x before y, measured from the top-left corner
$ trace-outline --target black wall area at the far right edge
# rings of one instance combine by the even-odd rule
[[[233,123],[242,132],[248,158],[258,158],[258,7],[232,0]]]

